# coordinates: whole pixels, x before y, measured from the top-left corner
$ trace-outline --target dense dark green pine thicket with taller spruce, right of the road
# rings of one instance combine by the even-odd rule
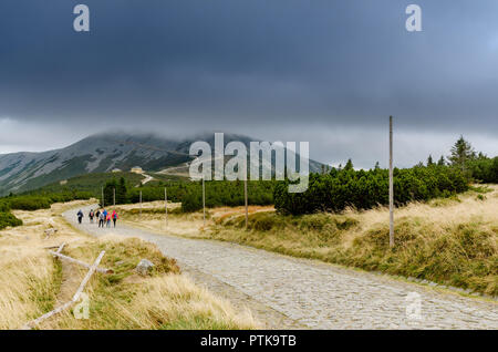
[[[377,164],[378,165],[378,164]],[[463,136],[450,155],[437,163],[429,155],[426,165],[394,169],[394,201],[397,206],[412,200],[448,197],[468,189],[470,183],[498,183],[498,157],[476,153]],[[388,170],[376,166],[354,170],[351,159],[344,168],[332,168],[322,175],[310,175],[305,193],[289,194],[289,182],[280,182],[274,190],[276,209],[284,214],[342,211],[346,207],[371,209],[388,204]]]

